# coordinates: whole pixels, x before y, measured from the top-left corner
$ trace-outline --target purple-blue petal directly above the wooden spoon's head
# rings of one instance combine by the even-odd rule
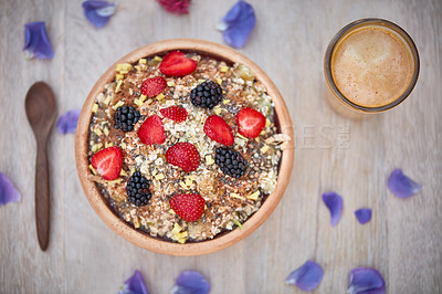
[[[31,22],[24,24],[24,46],[29,59],[49,59],[54,57],[51,42],[49,41],[44,22]]]

